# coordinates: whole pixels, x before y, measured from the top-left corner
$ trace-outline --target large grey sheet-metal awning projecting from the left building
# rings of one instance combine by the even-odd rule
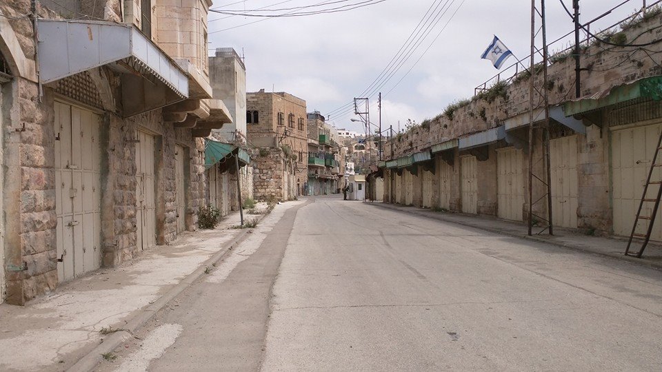
[[[106,65],[122,74],[124,117],[188,97],[185,72],[130,25],[39,19],[37,34],[41,83]]]

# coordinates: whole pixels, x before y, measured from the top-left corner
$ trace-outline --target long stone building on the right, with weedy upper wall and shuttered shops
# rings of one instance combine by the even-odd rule
[[[550,59],[546,89],[554,226],[630,235],[662,132],[662,61],[659,54],[627,44],[652,43],[658,50],[661,25],[659,17],[638,17],[616,30],[627,41],[623,46],[584,42],[579,99],[572,99],[570,53]],[[525,176],[530,79],[542,85],[541,72],[520,72],[393,138],[385,150],[389,154],[392,145],[394,151],[381,163],[384,200],[528,220],[528,190],[532,187],[534,200],[544,195],[541,183],[534,179],[528,185]],[[541,102],[539,94],[533,100]],[[543,107],[536,108],[534,123],[543,118]],[[535,130],[534,159],[543,157],[541,136]],[[544,164],[535,161],[534,173],[545,174]],[[654,180],[659,177],[654,172]],[[548,207],[536,203],[534,212],[545,216]],[[658,216],[658,226],[660,221]],[[637,229],[646,225],[642,220]],[[662,240],[662,229],[654,229],[652,238]]]

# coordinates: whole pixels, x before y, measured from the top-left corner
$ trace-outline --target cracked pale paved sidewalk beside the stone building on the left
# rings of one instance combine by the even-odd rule
[[[266,209],[265,203],[258,205]],[[261,218],[264,215],[245,215]],[[150,316],[150,307],[192,273],[220,259],[249,229],[239,211],[214,230],[185,232],[172,245],[157,246],[130,262],[102,268],[60,285],[24,307],[0,304],[0,371],[64,371],[114,331]],[[208,262],[205,262],[208,261]],[[110,330],[104,335],[101,329]]]

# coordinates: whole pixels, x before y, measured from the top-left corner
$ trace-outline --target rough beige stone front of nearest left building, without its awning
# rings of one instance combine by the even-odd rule
[[[129,6],[139,1],[124,1],[129,8],[124,14],[117,0],[98,1],[94,13],[89,2],[68,3],[77,12],[99,19],[141,25],[134,17],[137,13],[130,12],[139,10]],[[153,6],[158,9],[164,4],[156,1]],[[194,23],[206,23],[208,5],[192,2]],[[69,74],[43,85],[40,91],[34,29],[32,21],[22,16],[30,13],[30,1],[0,3],[0,66],[6,66],[0,67],[4,169],[1,299],[23,304],[52,291],[62,280],[136,257],[144,247],[138,218],[145,221],[147,214],[153,213],[154,223],[151,230],[143,231],[152,234],[144,241],[168,244],[181,231],[197,229],[197,209],[205,203],[206,193],[205,149],[199,136],[209,132],[195,127],[198,118],[209,115],[200,104],[200,99],[210,98],[205,93],[210,92],[205,88],[209,85],[204,75],[206,58],[201,59],[206,55],[204,28],[188,25],[182,13],[188,10],[169,12],[167,8],[165,13],[179,14],[172,15],[179,25],[170,30],[178,30],[182,40],[188,38],[169,55],[179,61],[170,61],[190,79],[191,91],[188,101],[174,106],[169,104],[172,101],[164,101],[165,108],[154,110],[147,107],[149,99],[129,97],[139,92],[123,90],[127,73],[123,71],[130,70],[129,65],[117,68],[108,63]],[[39,16],[46,19],[71,16],[39,5],[38,9]],[[161,10],[151,14],[157,20],[154,31],[164,30],[157,25],[162,25],[160,17],[170,17]],[[189,27],[199,33],[193,34]],[[158,32],[152,34],[152,40],[159,41]],[[157,50],[162,46],[154,45]],[[198,49],[188,52],[186,45]],[[189,64],[197,70],[181,67]],[[151,73],[128,72],[131,76]],[[172,89],[157,79],[151,84],[153,89]],[[197,99],[191,99],[193,96]],[[143,112],[125,115],[127,99],[146,105]],[[144,138],[150,139],[146,142]],[[137,158],[138,153],[142,158]],[[68,156],[72,160],[63,161]],[[147,170],[139,171],[140,160],[146,161]],[[94,165],[88,168],[88,163]],[[153,204],[144,207],[148,203],[143,197]]]

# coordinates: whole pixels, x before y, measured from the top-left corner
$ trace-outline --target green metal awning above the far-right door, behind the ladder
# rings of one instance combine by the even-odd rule
[[[620,103],[650,100],[662,100],[662,76],[640,79],[570,101],[563,105],[563,111],[566,116],[573,116]]]

